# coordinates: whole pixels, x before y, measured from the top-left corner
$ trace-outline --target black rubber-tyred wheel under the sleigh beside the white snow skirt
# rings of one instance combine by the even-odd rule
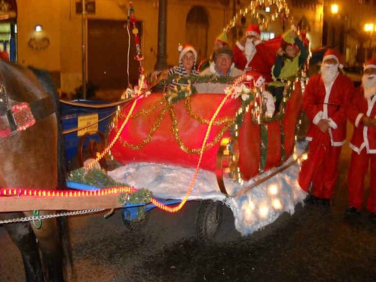
[[[203,200],[196,213],[196,234],[200,240],[214,238],[222,221],[222,203],[220,201]]]

